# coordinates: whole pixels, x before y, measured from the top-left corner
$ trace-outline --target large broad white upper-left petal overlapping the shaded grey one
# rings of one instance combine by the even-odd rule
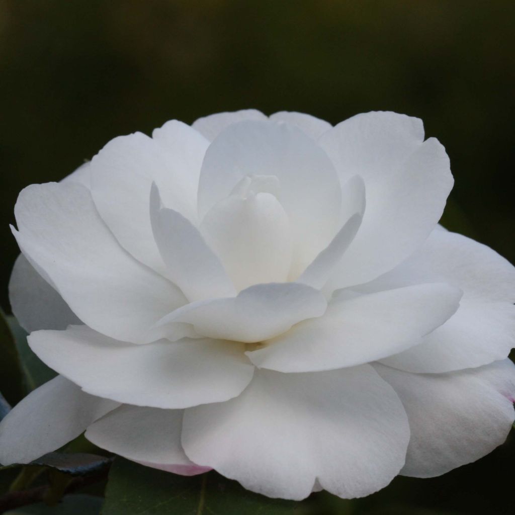
[[[84,186],[28,186],[14,212],[20,248],[91,328],[140,341],[151,324],[186,301],[118,245]]]

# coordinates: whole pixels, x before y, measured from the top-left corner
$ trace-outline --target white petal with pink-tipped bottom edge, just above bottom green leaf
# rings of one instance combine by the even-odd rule
[[[124,404],[88,427],[85,437],[102,449],[148,467],[186,476],[209,467],[195,465],[182,450],[182,409]]]

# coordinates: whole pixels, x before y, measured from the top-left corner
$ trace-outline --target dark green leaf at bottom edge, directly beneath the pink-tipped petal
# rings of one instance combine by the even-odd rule
[[[215,472],[185,477],[116,458],[102,515],[292,515],[295,504],[249,492]]]

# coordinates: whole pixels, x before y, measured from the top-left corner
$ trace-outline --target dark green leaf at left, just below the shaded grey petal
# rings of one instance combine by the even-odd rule
[[[20,324],[13,316],[6,317],[11,333],[14,335],[16,350],[20,358],[23,370],[26,392],[30,392],[38,386],[53,379],[57,373],[47,367],[41,359],[32,352],[27,344],[27,332],[20,327]]]

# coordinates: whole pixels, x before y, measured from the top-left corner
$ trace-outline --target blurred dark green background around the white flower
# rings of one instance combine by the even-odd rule
[[[456,178],[444,224],[515,261],[514,22],[512,0],[0,1],[3,307],[22,187],[61,179],[116,135],[246,107],[332,123],[370,110],[421,117]],[[505,445],[380,495],[515,513],[514,456]]]

